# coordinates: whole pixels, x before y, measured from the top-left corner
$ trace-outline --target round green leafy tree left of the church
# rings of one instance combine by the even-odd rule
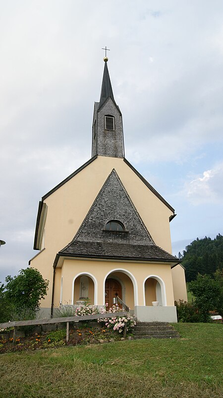
[[[5,297],[15,309],[38,310],[47,294],[49,281],[35,268],[21,269],[19,275],[5,278]]]

